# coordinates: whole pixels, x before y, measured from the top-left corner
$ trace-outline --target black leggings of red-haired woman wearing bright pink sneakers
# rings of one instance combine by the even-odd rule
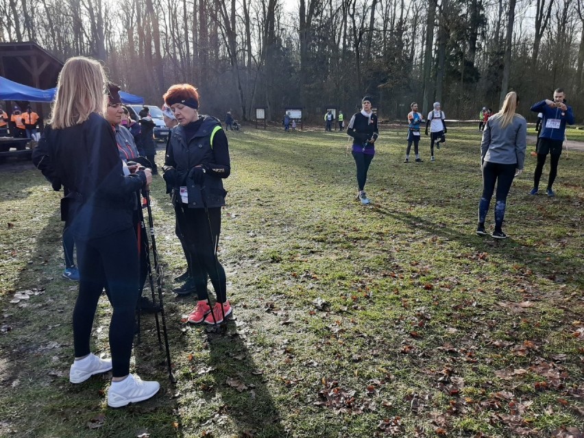
[[[191,277],[199,300],[206,300],[207,276],[211,279],[217,302],[227,301],[225,269],[217,258],[217,246],[221,233],[221,207],[188,208],[177,204],[176,220],[184,238],[184,245],[191,258]]]

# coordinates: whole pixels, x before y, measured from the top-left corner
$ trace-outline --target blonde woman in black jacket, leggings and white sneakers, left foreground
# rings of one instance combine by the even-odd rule
[[[112,370],[108,405],[125,406],[154,396],[160,385],[130,374],[134,311],[138,300],[138,244],[134,193],[151,182],[149,169],[124,175],[114,130],[106,119],[106,75],[99,62],[70,58],[59,75],[51,121],[34,162],[53,188],[69,189],[62,215],[77,244],[80,285],[73,309],[75,361],[69,380],[81,383]],[[90,350],[97,302],[104,287],[113,307],[112,359]]]

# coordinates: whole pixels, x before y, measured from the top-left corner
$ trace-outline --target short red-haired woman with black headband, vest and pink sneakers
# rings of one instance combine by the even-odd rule
[[[219,324],[232,313],[227,300],[225,270],[217,259],[221,206],[225,205],[227,194],[223,179],[231,171],[227,136],[219,120],[199,115],[199,93],[194,86],[173,85],[163,98],[178,121],[167,146],[164,178],[190,271],[184,286],[175,289],[175,293],[197,293],[198,302],[188,315],[189,322]],[[212,309],[207,276],[217,296]]]

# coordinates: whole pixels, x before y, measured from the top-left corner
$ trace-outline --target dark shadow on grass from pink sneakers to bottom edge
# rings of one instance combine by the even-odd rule
[[[224,335],[209,333],[208,345],[217,391],[221,393],[224,409],[238,430],[237,436],[287,437],[280,424],[280,414],[263,382],[262,372],[254,363],[244,339],[236,332],[235,325],[229,323]]]

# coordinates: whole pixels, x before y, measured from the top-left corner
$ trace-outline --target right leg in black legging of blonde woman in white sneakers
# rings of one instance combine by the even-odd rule
[[[138,301],[139,262],[136,234],[128,228],[99,239],[96,246],[113,307],[110,322],[112,376],[124,377],[130,374],[134,312]]]

